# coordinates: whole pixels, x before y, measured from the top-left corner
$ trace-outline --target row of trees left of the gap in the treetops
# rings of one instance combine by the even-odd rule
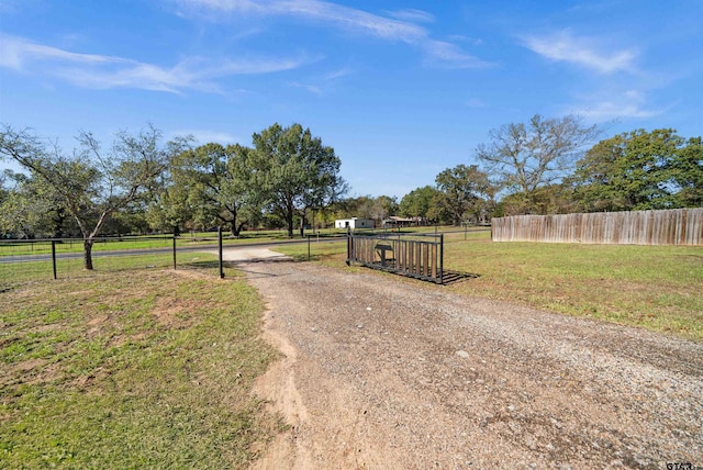
[[[292,236],[297,220],[302,231],[312,211],[347,191],[334,149],[300,124],[255,133],[252,147],[164,144],[152,125],[118,133],[107,149],[89,132],[77,138],[67,155],[30,130],[3,127],[0,156],[24,171],[3,172],[0,233],[78,234],[86,269],[99,234],[227,226],[237,236],[271,217]]]

